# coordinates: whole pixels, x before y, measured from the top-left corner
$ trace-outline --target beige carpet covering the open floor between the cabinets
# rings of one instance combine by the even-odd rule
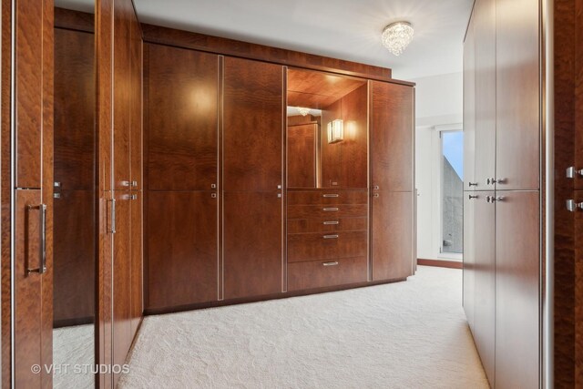
[[[149,316],[121,388],[487,388],[462,271]]]

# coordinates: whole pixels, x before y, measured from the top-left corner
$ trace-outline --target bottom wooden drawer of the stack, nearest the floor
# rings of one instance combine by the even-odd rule
[[[292,292],[366,282],[366,273],[366,257],[290,263],[288,265],[288,290]]]

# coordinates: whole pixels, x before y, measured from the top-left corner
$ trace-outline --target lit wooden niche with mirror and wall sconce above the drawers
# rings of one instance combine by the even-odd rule
[[[368,85],[288,70],[288,188],[367,188]]]

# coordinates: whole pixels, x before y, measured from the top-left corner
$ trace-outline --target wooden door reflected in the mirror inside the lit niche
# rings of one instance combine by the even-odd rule
[[[288,126],[288,188],[316,188],[317,124]]]

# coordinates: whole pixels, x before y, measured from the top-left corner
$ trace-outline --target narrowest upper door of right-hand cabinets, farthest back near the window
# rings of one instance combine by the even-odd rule
[[[476,189],[476,17],[464,40],[464,190]],[[471,185],[470,185],[471,184]]]

